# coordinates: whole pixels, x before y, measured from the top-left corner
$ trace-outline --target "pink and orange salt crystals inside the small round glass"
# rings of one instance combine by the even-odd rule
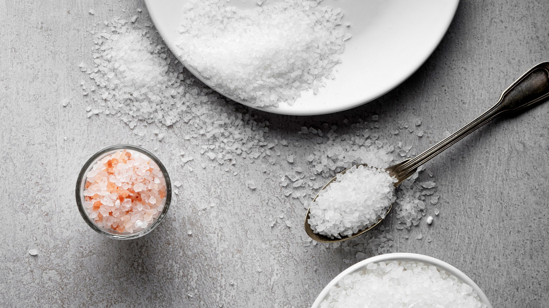
[[[166,182],[148,156],[122,150],[93,165],[84,196],[84,208],[96,225],[132,233],[145,229],[162,212]]]

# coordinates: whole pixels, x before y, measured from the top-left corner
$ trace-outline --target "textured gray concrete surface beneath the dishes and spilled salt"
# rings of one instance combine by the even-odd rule
[[[119,119],[86,118],[79,89],[86,77],[76,67],[90,56],[85,30],[137,8],[145,11],[140,1],[0,1],[0,306],[310,306],[348,265],[340,249],[302,246],[304,209],[278,187],[278,174],[290,168],[284,155],[267,173],[260,161],[240,163],[237,176],[211,168],[189,173],[175,157],[197,149],[182,140],[186,128],[179,126],[144,145],[158,149],[185,187],[158,229],[112,241],[81,219],[74,184],[83,162],[105,146],[133,142]],[[325,116],[253,113],[270,121],[272,138],[287,140],[298,138],[304,125],[327,122],[345,130],[345,118],[378,114],[386,135],[398,122],[421,118],[424,138],[393,140],[425,149],[484,111],[529,67],[549,60],[548,13],[544,0],[462,1],[434,54],[382,98]],[[68,107],[59,104],[64,98],[71,99]],[[396,232],[395,251],[455,265],[494,307],[549,306],[548,133],[545,104],[495,121],[429,162],[441,213],[430,227],[422,220]],[[284,151],[294,151],[296,164],[305,166],[302,156],[310,150]],[[255,191],[243,188],[249,178]],[[201,209],[211,202],[220,206]],[[268,227],[266,220],[279,213],[293,227]],[[405,238],[419,232],[432,242]],[[32,248],[37,256],[27,254]]]

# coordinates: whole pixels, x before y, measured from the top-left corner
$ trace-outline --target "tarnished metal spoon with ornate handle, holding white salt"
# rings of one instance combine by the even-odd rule
[[[455,144],[457,141],[461,140],[468,134],[474,132],[474,130],[490,122],[497,116],[517,115],[520,111],[523,111],[526,108],[531,107],[539,102],[545,101],[547,98],[549,98],[549,62],[542,62],[532,67],[522,76],[520,76],[515,82],[509,85],[509,87],[505,89],[505,91],[503,91],[503,93],[501,94],[500,100],[498,100],[494,106],[486,110],[486,112],[484,112],[478,118],[474,119],[466,126],[458,129],[457,132],[451,134],[450,136],[447,136],[444,140],[430,147],[430,149],[428,149],[427,151],[417,155],[414,158],[405,159],[404,161],[401,161],[400,163],[386,168],[385,170],[388,170],[389,174],[398,180],[395,183],[396,187],[402,181],[406,180],[410,175],[416,172],[419,166],[429,161],[429,159],[435,157],[440,152],[446,150],[448,147]],[[366,164],[364,164],[363,166],[366,166]],[[357,166],[353,166],[351,168],[356,167]],[[349,169],[344,170],[340,174],[344,174]],[[324,185],[324,187],[322,187],[320,191],[326,189],[326,187],[328,187],[328,185],[330,185],[330,183],[332,183],[335,179],[337,179],[337,176],[330,180],[326,185]],[[318,193],[320,193],[320,191]],[[318,193],[313,199],[313,202],[316,201]],[[393,208],[392,204],[387,210],[387,214],[389,214],[391,208]],[[311,208],[309,207],[309,210],[307,210],[307,215],[305,216],[305,232],[307,232],[307,235],[309,235],[315,241],[323,243],[341,242],[345,241],[346,239],[361,235],[362,233],[378,225],[383,220],[380,219],[373,226],[365,230],[358,231],[350,237],[329,238],[328,236],[320,235],[312,231],[311,225],[308,222],[310,210]]]

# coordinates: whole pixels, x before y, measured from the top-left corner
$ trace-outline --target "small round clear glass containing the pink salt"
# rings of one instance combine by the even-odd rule
[[[120,150],[132,150],[132,151],[140,152],[143,155],[152,159],[156,163],[156,165],[160,168],[162,174],[164,175],[164,180],[166,182],[166,199],[164,201],[164,207],[162,209],[162,212],[160,213],[160,215],[158,215],[158,217],[156,217],[156,220],[152,224],[147,226],[145,229],[138,230],[132,233],[117,232],[115,230],[105,229],[104,227],[100,227],[96,225],[93,222],[93,220],[89,218],[86,212],[86,209],[84,208],[84,201],[85,201],[84,186],[86,185],[87,174],[89,170],[91,170],[93,165],[96,164],[96,162],[98,162],[100,159],[104,158],[105,156],[114,154],[115,152]],[[86,224],[88,224],[88,226],[90,226],[93,230],[109,238],[132,239],[132,238],[142,237],[145,234],[149,233],[150,231],[153,231],[153,229],[160,224],[160,221],[164,219],[164,216],[166,215],[168,209],[170,208],[170,202],[171,202],[171,182],[170,182],[170,176],[168,175],[166,168],[160,162],[160,160],[156,156],[154,156],[153,153],[143,149],[142,147],[138,147],[135,145],[127,145],[127,144],[114,145],[114,146],[109,146],[95,153],[84,164],[84,166],[82,167],[82,170],[80,171],[80,174],[78,175],[78,180],[76,181],[76,204],[78,206],[78,210],[80,211],[80,214],[82,215],[82,218],[86,221]]]

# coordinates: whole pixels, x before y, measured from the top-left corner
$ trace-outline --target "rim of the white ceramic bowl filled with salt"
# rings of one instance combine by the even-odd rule
[[[486,294],[477,286],[476,283],[474,283],[471,278],[467,277],[462,271],[456,269],[456,267],[453,267],[450,264],[447,264],[444,261],[441,261],[439,259],[435,259],[432,256],[422,255],[422,254],[415,254],[415,253],[389,253],[384,255],[378,255],[373,256],[372,258],[368,258],[366,260],[362,260],[358,262],[355,265],[350,266],[348,269],[341,272],[338,276],[336,276],[324,289],[322,292],[318,295],[318,297],[315,300],[315,303],[312,304],[312,308],[318,308],[320,307],[320,304],[324,299],[326,299],[329,295],[330,288],[335,286],[343,277],[347,275],[351,275],[354,272],[361,271],[366,269],[366,265],[370,263],[380,263],[380,262],[393,262],[393,261],[414,261],[414,262],[421,262],[427,265],[433,265],[438,269],[439,271],[446,271],[449,275],[455,276],[458,280],[460,280],[462,283],[467,283],[469,286],[473,288],[473,290],[477,291],[477,294],[483,303],[486,304],[488,308],[492,308],[492,304],[490,304],[490,301],[486,297]]]

